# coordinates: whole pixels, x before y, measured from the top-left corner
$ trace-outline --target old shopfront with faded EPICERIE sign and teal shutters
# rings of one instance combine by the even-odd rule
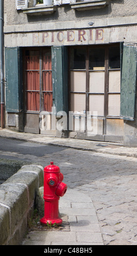
[[[86,5],[81,13],[53,4],[59,16],[65,8],[75,14],[63,22],[53,14],[44,22],[35,7],[14,9],[22,25],[4,26],[8,129],[137,145],[136,16],[109,17],[119,1],[98,2],[107,2],[102,19],[96,8],[87,16]]]

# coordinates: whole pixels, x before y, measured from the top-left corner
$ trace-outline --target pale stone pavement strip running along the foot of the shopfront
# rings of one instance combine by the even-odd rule
[[[19,141],[53,145],[77,150],[86,150],[93,153],[137,157],[136,147],[126,147],[122,143],[88,141],[74,138],[57,138],[53,136],[35,135],[33,133],[15,132],[0,129],[0,138],[16,139]]]

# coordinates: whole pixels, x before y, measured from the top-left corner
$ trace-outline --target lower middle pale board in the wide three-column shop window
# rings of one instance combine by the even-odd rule
[[[97,115],[104,115],[104,95],[89,95],[89,111],[97,111]]]

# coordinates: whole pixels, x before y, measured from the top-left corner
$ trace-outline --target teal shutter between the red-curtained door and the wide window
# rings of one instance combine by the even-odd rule
[[[68,52],[66,46],[51,47],[53,106],[68,112]]]

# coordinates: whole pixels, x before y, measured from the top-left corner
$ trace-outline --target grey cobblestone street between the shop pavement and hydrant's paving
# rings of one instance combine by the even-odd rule
[[[27,142],[21,147],[23,144],[27,148]],[[92,198],[104,244],[137,245],[137,159],[57,146],[50,153],[50,147],[43,156],[2,150],[0,154],[2,158],[31,161],[43,167],[54,161],[69,188]]]

